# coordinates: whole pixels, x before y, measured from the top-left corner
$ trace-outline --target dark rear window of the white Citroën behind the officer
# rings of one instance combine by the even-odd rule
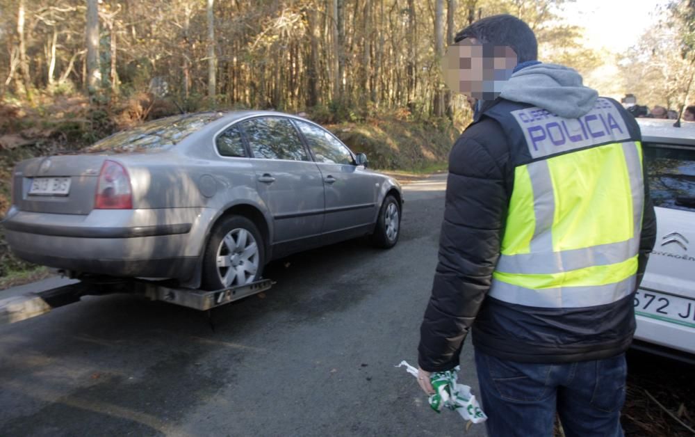
[[[645,144],[644,161],[654,206],[695,212],[695,148]]]

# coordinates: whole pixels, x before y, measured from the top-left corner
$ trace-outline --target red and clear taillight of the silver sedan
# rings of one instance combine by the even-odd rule
[[[99,172],[96,209],[132,209],[133,191],[126,169],[115,161],[104,161]]]

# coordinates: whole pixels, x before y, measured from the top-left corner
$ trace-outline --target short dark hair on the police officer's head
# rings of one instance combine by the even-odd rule
[[[454,40],[459,42],[466,38],[475,38],[483,44],[512,47],[518,63],[536,61],[538,58],[536,35],[528,24],[513,15],[493,15],[479,19],[457,33]]]

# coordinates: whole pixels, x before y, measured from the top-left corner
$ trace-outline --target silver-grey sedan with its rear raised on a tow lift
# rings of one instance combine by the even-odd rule
[[[400,185],[366,166],[304,118],[184,114],[22,161],[2,225],[18,257],[76,276],[222,289],[308,248],[363,235],[394,246]]]

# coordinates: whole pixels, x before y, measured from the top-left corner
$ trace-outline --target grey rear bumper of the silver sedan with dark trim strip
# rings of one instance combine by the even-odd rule
[[[111,276],[189,278],[213,211],[95,209],[90,214],[10,210],[2,222],[12,251],[56,269]]]

